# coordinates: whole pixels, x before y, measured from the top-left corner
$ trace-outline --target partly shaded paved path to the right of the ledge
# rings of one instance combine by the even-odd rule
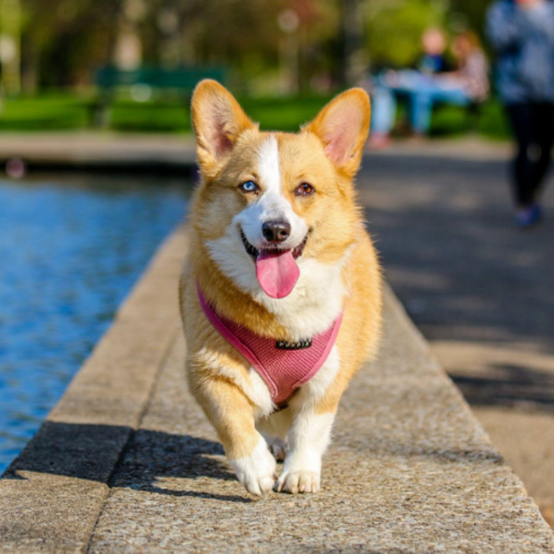
[[[519,231],[508,154],[400,145],[359,183],[395,293],[554,526],[554,183],[544,224]]]

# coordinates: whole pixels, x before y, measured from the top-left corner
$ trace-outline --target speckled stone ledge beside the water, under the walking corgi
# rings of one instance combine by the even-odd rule
[[[0,480],[1,552],[554,552],[390,290],[315,496],[256,501],[186,390],[178,231]]]

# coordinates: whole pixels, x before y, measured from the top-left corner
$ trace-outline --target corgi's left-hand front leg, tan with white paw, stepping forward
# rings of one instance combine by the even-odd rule
[[[240,388],[226,379],[190,379],[190,388],[222,441],[238,480],[248,492],[261,496],[275,484],[275,458],[256,430],[252,404]]]

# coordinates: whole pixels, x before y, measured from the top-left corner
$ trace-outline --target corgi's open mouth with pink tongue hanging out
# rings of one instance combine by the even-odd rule
[[[301,244],[292,250],[281,248],[257,249],[250,244],[240,230],[242,244],[256,265],[256,278],[263,292],[270,298],[289,296],[300,277],[296,260],[302,256],[307,235]]]

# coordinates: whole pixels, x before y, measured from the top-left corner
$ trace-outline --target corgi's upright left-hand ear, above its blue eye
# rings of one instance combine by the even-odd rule
[[[191,105],[200,166],[209,169],[224,159],[246,129],[255,127],[233,95],[217,81],[195,88]]]

